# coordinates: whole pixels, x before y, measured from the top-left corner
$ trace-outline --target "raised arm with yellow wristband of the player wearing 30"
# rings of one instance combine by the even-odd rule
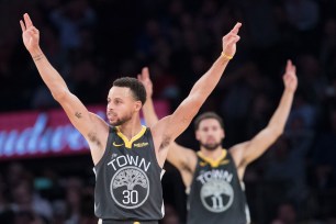
[[[242,26],[237,23],[234,29],[223,37],[223,51],[221,56],[214,61],[212,67],[194,83],[189,96],[177,108],[177,110],[169,116],[164,117],[157,122],[152,131],[155,136],[155,148],[161,150],[166,148],[172,141],[176,139],[190,124],[192,119],[199,112],[205,99],[213,91],[228,60],[236,53],[236,43],[239,41],[238,31]],[[164,153],[159,160],[166,159]]]

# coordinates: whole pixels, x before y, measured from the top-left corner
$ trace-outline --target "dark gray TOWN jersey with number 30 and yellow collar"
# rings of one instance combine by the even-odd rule
[[[157,221],[164,216],[161,176],[150,130],[128,141],[110,127],[107,149],[94,167],[94,213],[102,220]]]

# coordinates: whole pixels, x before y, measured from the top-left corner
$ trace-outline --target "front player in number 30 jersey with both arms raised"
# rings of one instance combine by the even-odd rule
[[[23,43],[53,97],[87,139],[96,172],[94,212],[102,224],[154,224],[164,216],[163,166],[168,145],[190,124],[219,82],[239,41],[240,23],[223,37],[223,51],[177,110],[153,127],[142,126],[146,90],[135,78],[120,78],[108,94],[110,125],[74,96],[40,48],[40,33],[30,16],[20,21]]]

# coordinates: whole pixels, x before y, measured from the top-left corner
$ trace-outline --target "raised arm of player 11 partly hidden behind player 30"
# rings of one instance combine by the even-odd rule
[[[137,76],[137,79],[145,86],[147,99],[143,105],[143,113],[147,126],[154,126],[158,122],[157,114],[155,112],[153,103],[153,82],[149,78],[148,68],[145,67],[142,74]],[[167,159],[172,164],[182,175],[182,179],[186,186],[191,182],[190,171],[193,171],[197,163],[197,155],[194,150],[180,146],[176,142],[171,142],[168,146]]]

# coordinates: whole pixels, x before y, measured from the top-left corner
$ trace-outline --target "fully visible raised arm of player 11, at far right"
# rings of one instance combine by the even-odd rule
[[[289,116],[294,93],[298,87],[295,66],[291,60],[287,61],[285,72],[283,75],[284,90],[280,103],[273,113],[268,125],[261,130],[253,139],[235,145],[231,153],[238,167],[239,175],[244,175],[245,168],[253,160],[261,156],[271,144],[282,134],[287,119]]]

